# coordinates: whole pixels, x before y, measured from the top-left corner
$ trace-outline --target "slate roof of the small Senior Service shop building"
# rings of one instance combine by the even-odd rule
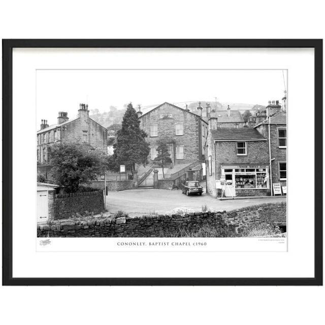
[[[211,130],[211,136],[215,141],[259,141],[267,140],[255,128],[217,128]]]

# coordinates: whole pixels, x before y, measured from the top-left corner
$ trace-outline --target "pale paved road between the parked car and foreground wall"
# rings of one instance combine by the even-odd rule
[[[200,211],[203,205],[211,210],[232,210],[245,206],[285,201],[284,197],[265,199],[244,199],[220,201],[203,193],[202,196],[186,196],[180,190],[164,189],[138,189],[120,192],[109,192],[106,209],[109,212],[122,210],[130,216],[157,212],[158,214],[170,213],[174,208],[186,207]]]

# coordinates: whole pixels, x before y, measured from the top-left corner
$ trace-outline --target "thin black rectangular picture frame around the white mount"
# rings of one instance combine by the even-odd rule
[[[13,39],[3,40],[3,285],[322,285],[322,40],[320,39]],[[13,48],[313,48],[315,94],[314,277],[311,278],[13,278]]]

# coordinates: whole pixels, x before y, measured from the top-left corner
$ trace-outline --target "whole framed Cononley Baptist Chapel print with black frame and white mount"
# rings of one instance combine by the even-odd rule
[[[3,130],[5,285],[322,285],[322,40],[3,40]]]

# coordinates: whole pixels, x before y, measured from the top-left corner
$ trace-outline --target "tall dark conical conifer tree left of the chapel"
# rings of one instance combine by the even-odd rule
[[[113,157],[117,165],[125,165],[133,174],[135,164],[148,164],[149,143],[147,134],[140,128],[140,120],[132,104],[127,105],[122,127],[117,131]]]

